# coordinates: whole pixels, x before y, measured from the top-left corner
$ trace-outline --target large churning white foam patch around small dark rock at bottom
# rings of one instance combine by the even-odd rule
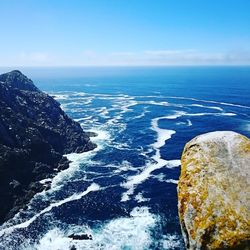
[[[151,230],[156,226],[157,219],[147,207],[136,207],[129,217],[113,219],[93,228],[82,226],[80,232],[90,234],[93,240],[72,240],[67,237],[72,231],[54,228],[33,249],[70,249],[73,245],[82,250],[149,249],[153,241]]]

